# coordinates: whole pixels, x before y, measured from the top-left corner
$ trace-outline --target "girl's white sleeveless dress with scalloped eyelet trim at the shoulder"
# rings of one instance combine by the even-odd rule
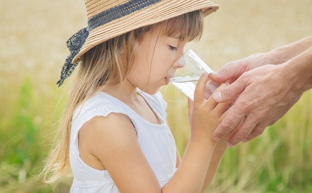
[[[78,149],[78,131],[82,125],[94,116],[107,116],[111,112],[126,114],[135,125],[141,148],[161,187],[174,174],[176,147],[171,131],[166,124],[167,104],[159,92],[155,95],[138,92],[156,113],[161,124],[145,120],[119,99],[102,92],[89,98],[75,110],[69,150],[70,165],[74,176],[71,193],[119,193],[109,173],[106,170],[96,170],[85,164],[79,156]]]

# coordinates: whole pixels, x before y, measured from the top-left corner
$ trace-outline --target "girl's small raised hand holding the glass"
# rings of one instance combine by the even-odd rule
[[[217,103],[213,97],[205,99],[205,87],[208,74],[203,73],[197,82],[194,92],[194,102],[188,102],[191,134],[205,135],[212,139],[212,133],[226,115],[226,108],[230,101]],[[222,84],[215,92],[224,88]],[[226,112],[225,112],[226,111]]]

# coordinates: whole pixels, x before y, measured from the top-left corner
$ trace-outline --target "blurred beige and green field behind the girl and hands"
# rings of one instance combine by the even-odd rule
[[[312,35],[311,0],[215,0],[193,49],[213,70],[257,52]],[[0,1],[0,192],[63,193],[34,178],[64,107],[56,86],[68,55],[66,40],[86,26],[82,0]],[[285,81],[287,80],[285,75]],[[67,81],[68,82],[68,81]],[[187,143],[187,99],[161,89],[180,154]],[[209,193],[311,193],[312,91],[275,125],[227,150]]]

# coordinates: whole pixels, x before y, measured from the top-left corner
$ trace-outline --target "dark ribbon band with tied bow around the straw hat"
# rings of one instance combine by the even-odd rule
[[[80,52],[83,44],[89,36],[89,31],[97,28],[98,26],[104,25],[115,19],[121,18],[123,16],[129,15],[135,11],[143,9],[150,6],[160,0],[129,0],[124,4],[117,5],[115,7],[109,8],[102,11],[90,19],[88,19],[88,27],[79,30],[73,36],[67,40],[67,47],[70,51],[69,56],[66,58],[64,66],[62,67],[61,78],[57,81],[58,87],[60,87],[64,80],[69,77],[75,70],[77,63],[72,63],[72,60]]]

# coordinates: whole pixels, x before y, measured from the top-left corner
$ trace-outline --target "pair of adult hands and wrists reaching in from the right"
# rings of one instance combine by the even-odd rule
[[[218,141],[233,131],[227,144],[232,147],[260,135],[274,124],[312,89],[312,36],[276,48],[253,54],[226,64],[209,74],[216,83],[231,85],[213,94],[217,102],[236,99],[228,114],[215,130]],[[211,89],[207,84],[207,90]],[[211,95],[211,92],[205,92]]]

